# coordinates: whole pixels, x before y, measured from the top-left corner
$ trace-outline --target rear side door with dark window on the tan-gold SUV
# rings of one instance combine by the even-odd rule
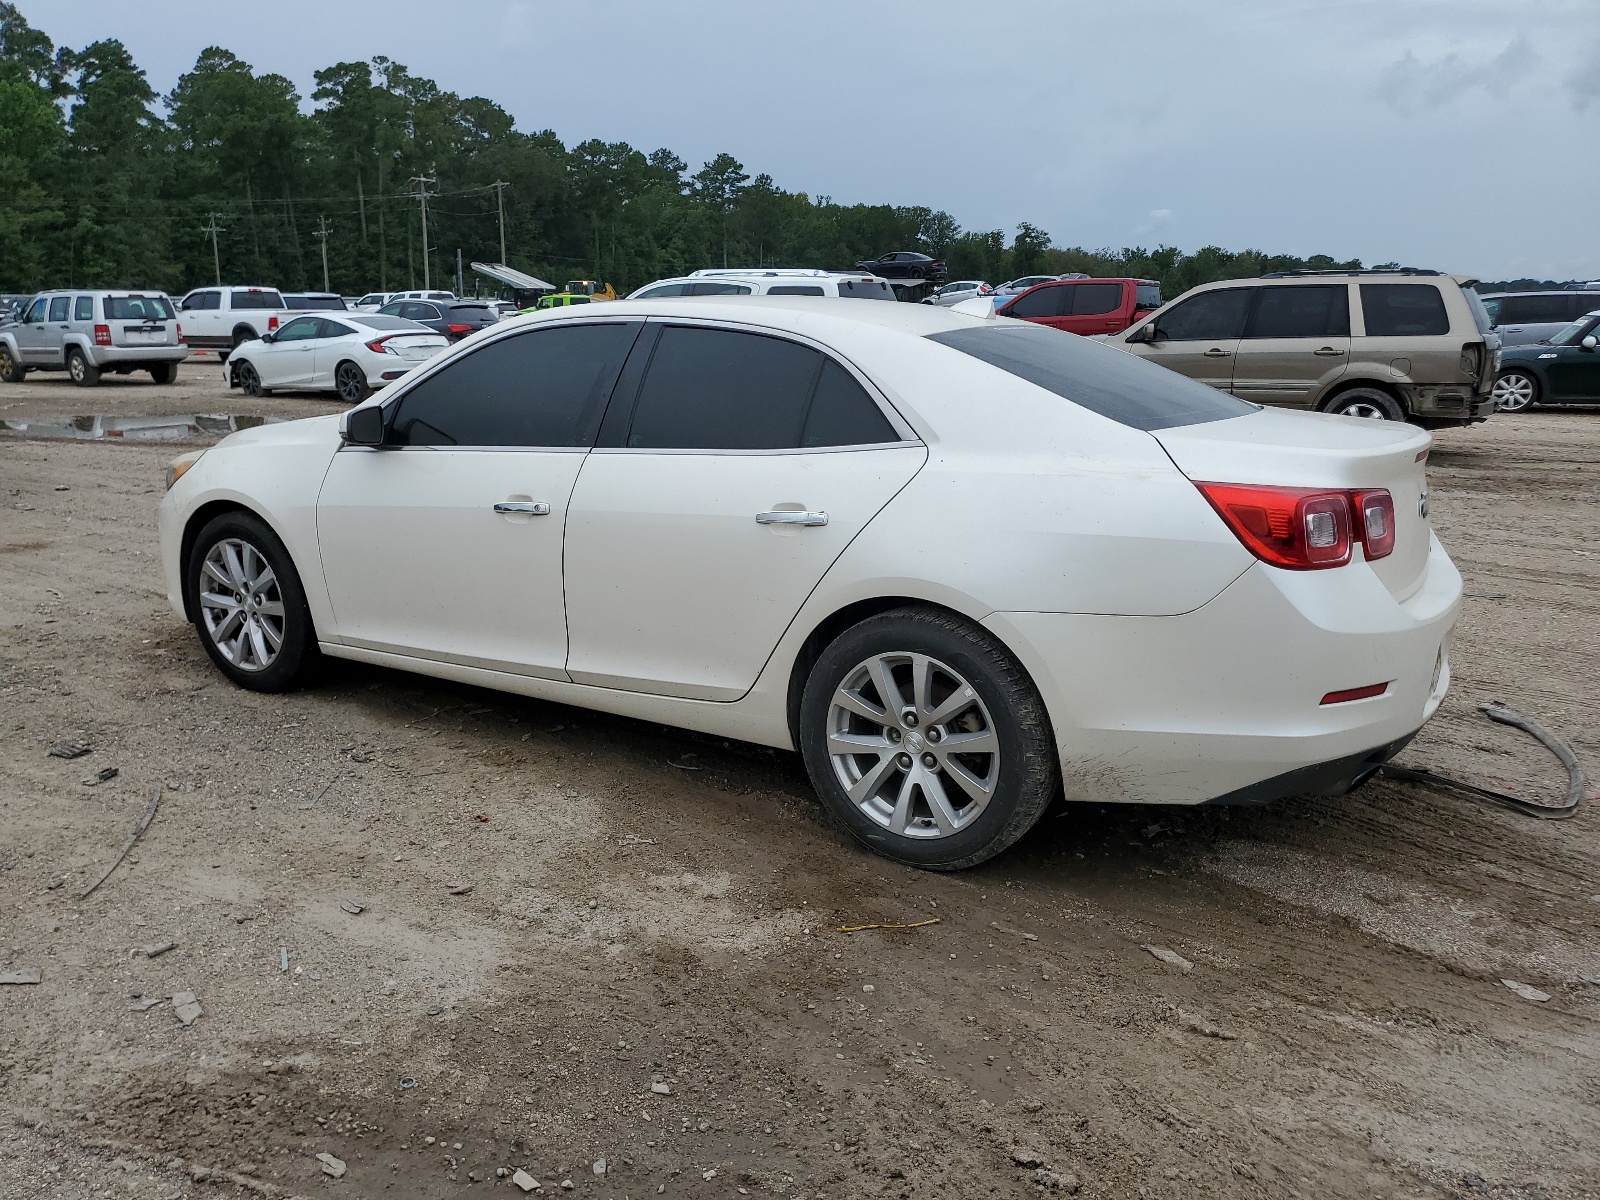
[[[1350,286],[1266,285],[1234,352],[1234,395],[1309,408],[1350,362]]]

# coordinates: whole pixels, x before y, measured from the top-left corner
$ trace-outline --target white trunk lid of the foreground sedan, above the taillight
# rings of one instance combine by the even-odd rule
[[[1434,440],[1424,430],[1392,421],[1262,408],[1150,435],[1184,475],[1200,483],[1387,488],[1395,506],[1395,549],[1370,566],[1397,600],[1421,582],[1432,534],[1424,469]]]

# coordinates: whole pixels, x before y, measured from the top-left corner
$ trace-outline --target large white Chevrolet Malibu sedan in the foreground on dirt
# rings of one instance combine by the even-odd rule
[[[1376,771],[1450,680],[1427,448],[1027,322],[618,301],[179,459],[162,555],[242,686],[325,654],[795,749],[954,869],[1058,795]]]

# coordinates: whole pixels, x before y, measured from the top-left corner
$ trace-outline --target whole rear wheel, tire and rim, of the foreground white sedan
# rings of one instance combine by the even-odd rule
[[[829,813],[869,850],[931,870],[982,862],[1061,789],[1045,704],[979,626],[898,608],[822,651],[800,742]]]

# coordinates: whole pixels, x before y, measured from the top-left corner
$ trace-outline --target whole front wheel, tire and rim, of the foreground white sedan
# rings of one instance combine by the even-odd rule
[[[258,517],[224,512],[195,539],[184,586],[200,643],[218,669],[253,691],[285,691],[318,661],[299,573]]]

